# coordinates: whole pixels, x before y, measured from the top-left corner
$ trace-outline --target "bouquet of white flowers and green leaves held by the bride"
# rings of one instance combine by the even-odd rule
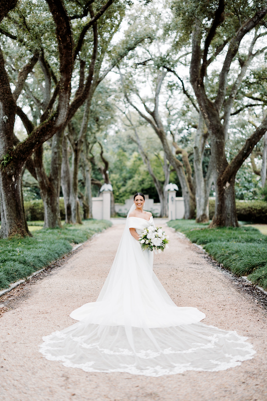
[[[143,230],[139,240],[142,250],[157,251],[160,253],[168,248],[168,236],[161,230],[161,227],[149,226]]]

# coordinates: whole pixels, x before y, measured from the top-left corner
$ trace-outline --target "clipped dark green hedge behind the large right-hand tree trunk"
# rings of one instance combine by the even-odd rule
[[[235,200],[237,219],[241,222],[267,224],[267,202],[264,200]],[[209,219],[215,211],[215,200],[209,200]]]

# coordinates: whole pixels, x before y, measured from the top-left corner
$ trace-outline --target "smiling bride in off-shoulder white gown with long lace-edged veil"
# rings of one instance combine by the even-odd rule
[[[49,360],[87,372],[146,376],[185,370],[218,371],[240,365],[255,351],[246,337],[200,323],[204,313],[177,307],[152,271],[153,253],[138,238],[154,226],[135,193],[110,272],[96,300],[71,312],[72,326],[43,337]]]

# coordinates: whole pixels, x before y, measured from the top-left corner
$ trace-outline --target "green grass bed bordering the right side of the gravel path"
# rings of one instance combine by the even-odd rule
[[[168,225],[191,242],[202,245],[236,276],[247,276],[267,290],[267,236],[263,234],[266,227],[260,227],[262,232],[255,227],[265,225],[208,229],[208,224],[197,224],[194,220],[173,220]]]

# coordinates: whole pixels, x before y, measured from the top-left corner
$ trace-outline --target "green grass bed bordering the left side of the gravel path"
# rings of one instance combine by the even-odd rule
[[[0,240],[0,289],[48,266],[71,251],[73,244],[110,226],[106,220],[87,220],[81,226],[64,225],[62,229],[40,230],[42,226],[34,225],[32,237]]]

